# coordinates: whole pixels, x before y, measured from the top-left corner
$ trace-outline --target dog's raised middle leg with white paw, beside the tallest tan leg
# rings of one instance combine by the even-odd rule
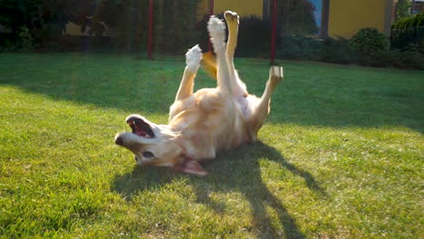
[[[225,28],[226,24],[214,15],[210,17],[207,23],[210,41],[214,45],[215,53],[217,53],[217,89],[221,92],[231,94],[230,74],[226,63],[226,43],[224,43]]]

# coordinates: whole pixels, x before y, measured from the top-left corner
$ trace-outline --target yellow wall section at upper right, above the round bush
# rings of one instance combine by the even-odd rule
[[[330,0],[328,34],[350,38],[361,28],[384,33],[386,0]]]

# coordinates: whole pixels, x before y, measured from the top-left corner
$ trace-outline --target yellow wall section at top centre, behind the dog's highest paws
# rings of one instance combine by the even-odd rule
[[[209,14],[209,0],[202,0],[198,5],[198,16]],[[262,17],[264,1],[262,0],[215,0],[214,14],[226,10],[236,12],[240,16],[256,15]]]

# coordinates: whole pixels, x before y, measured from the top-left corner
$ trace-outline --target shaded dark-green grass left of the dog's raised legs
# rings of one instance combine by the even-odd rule
[[[183,56],[154,62],[101,53],[9,56],[0,57],[0,87],[11,85],[52,100],[145,114],[168,113],[185,66]]]

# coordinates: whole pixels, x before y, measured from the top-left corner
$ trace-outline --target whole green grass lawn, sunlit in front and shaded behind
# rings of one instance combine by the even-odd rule
[[[422,238],[424,72],[281,63],[259,141],[200,178],[113,143],[167,123],[183,57],[0,54],[0,237]],[[267,61],[236,67],[261,94]]]

